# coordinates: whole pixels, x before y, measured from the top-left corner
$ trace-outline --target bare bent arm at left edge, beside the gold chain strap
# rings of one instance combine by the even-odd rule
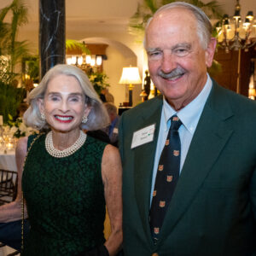
[[[15,201],[0,207],[0,222],[10,222],[21,218],[21,177],[24,160],[26,157],[27,137],[21,137],[15,150],[16,165],[18,171],[18,191]],[[25,207],[26,216],[26,207]]]

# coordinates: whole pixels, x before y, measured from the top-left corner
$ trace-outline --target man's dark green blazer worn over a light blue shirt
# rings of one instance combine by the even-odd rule
[[[148,213],[162,102],[120,120],[125,256],[256,255],[256,103],[214,81],[154,245]],[[153,142],[131,149],[134,131],[152,124]]]

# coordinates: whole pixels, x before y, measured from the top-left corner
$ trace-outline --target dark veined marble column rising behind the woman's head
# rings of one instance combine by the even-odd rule
[[[65,0],[39,0],[40,78],[56,64],[65,63]]]

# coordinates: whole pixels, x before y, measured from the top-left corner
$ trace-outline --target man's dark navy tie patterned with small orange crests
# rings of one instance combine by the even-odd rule
[[[149,212],[149,224],[154,242],[158,240],[179,177],[181,144],[178,128],[182,125],[182,122],[177,115],[173,115],[171,121],[166,144],[160,155]]]

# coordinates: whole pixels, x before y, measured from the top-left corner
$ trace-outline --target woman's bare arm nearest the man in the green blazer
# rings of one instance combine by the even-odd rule
[[[122,230],[122,166],[119,150],[106,146],[102,156],[102,181],[111,225],[111,234],[105,242],[110,256],[118,253],[123,241]]]

